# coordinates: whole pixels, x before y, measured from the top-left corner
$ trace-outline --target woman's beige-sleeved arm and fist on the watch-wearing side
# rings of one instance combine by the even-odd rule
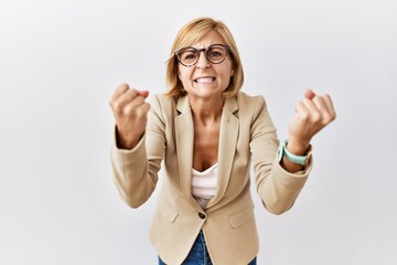
[[[250,142],[257,191],[269,212],[281,214],[297,200],[312,169],[312,160],[303,168],[285,157],[280,162],[275,158],[279,146],[276,128],[264,99],[259,106],[251,126]],[[305,153],[312,137],[334,118],[331,98],[308,91],[290,123],[288,150],[296,155]]]

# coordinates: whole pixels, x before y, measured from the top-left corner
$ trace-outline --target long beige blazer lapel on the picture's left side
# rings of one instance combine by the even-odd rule
[[[181,188],[184,197],[194,208],[200,209],[200,204],[192,195],[192,167],[193,167],[193,145],[194,125],[192,110],[187,96],[179,98],[176,110],[181,114],[175,118],[175,138],[178,152],[178,167]]]

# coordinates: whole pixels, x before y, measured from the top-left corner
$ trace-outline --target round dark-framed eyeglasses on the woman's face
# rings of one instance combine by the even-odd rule
[[[213,64],[225,61],[229,46],[224,44],[213,44],[206,49],[183,47],[174,53],[178,61],[186,67],[191,67],[198,62],[201,52],[204,52],[206,60]]]

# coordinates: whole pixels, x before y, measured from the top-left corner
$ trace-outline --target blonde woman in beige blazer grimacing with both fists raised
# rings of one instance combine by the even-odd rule
[[[279,145],[262,96],[240,92],[236,43],[221,21],[200,18],[178,33],[168,61],[169,92],[121,84],[111,162],[122,200],[138,208],[163,186],[150,230],[160,264],[256,264],[258,235],[250,162],[264,206],[289,210],[312,167],[310,140],[335,118],[330,96],[312,91],[297,105]]]

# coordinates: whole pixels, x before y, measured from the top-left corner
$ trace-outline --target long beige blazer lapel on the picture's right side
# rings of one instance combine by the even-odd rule
[[[232,174],[233,160],[236,152],[239,121],[234,113],[238,110],[235,97],[228,98],[222,112],[218,147],[218,180],[215,197],[205,208],[216,204],[225,194]]]

